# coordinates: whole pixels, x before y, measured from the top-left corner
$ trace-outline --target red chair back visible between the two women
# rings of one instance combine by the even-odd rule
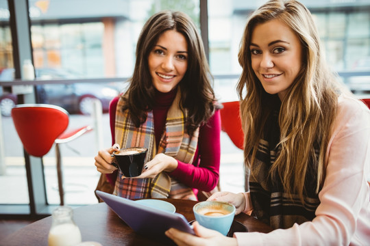
[[[227,133],[234,145],[244,149],[244,133],[240,118],[239,101],[223,102],[221,109],[221,130]]]

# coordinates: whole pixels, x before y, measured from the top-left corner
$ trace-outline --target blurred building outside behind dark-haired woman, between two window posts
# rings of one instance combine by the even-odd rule
[[[79,77],[130,77],[143,24],[160,10],[186,12],[199,27],[199,0],[29,0],[36,68],[59,68]],[[103,12],[101,10],[104,10]]]

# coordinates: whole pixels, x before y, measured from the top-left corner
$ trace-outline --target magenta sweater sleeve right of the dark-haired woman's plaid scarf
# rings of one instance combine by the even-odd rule
[[[199,128],[196,151],[198,154],[194,158],[193,165],[177,161],[177,168],[170,175],[188,187],[202,191],[211,191],[216,187],[219,182],[220,133],[220,111],[216,110],[207,124]]]

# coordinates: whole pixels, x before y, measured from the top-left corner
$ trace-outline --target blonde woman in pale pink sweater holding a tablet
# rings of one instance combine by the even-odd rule
[[[238,59],[249,191],[209,199],[275,230],[227,238],[195,223],[198,237],[167,236],[178,245],[369,245],[370,111],[327,68],[310,12],[268,1],[250,16]]]

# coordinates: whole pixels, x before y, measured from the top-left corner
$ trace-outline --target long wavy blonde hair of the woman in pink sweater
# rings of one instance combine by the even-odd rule
[[[336,76],[325,64],[319,35],[312,16],[298,1],[271,0],[251,14],[240,43],[238,60],[243,72],[238,81],[240,111],[245,133],[245,165],[251,167],[256,157],[262,130],[271,109],[273,95],[264,91],[251,68],[249,44],[256,25],[279,19],[301,41],[302,68],[282,100],[279,115],[281,152],[271,166],[270,176],[280,178],[284,192],[298,194],[304,200],[309,165],[317,174],[318,193],[325,178],[325,152],[330,139],[338,99]],[[314,146],[319,148],[315,153]],[[317,158],[317,156],[319,158]],[[315,175],[315,174],[313,174]]]

